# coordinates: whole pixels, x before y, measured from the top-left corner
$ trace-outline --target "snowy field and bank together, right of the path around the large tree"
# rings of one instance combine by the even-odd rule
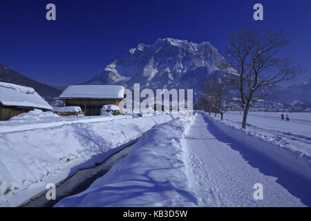
[[[283,114],[290,116],[290,122],[281,121],[281,113],[250,112],[247,117],[246,131],[244,131],[241,129],[242,113],[240,115],[239,112],[228,112],[224,115],[223,123],[226,126],[223,128],[243,142],[247,142],[249,137],[252,137],[249,142],[263,141],[266,145],[261,147],[262,152],[271,155],[274,160],[284,162],[298,172],[300,170],[311,180],[311,113]],[[219,116],[217,119],[219,120]],[[218,126],[221,127],[221,124]],[[247,137],[243,136],[242,131],[247,134]],[[253,146],[256,148],[263,145]],[[286,160],[289,162],[285,162]],[[301,164],[294,166],[292,162]],[[308,169],[302,169],[300,167],[303,166],[302,164],[304,167],[308,164]],[[310,173],[307,173],[308,171]]]

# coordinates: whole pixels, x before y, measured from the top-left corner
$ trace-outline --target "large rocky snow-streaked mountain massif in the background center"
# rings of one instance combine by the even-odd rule
[[[194,89],[210,74],[220,73],[216,66],[224,61],[209,42],[196,44],[178,39],[158,39],[155,44],[139,44],[119,61],[114,61],[85,84],[122,84],[132,88]]]

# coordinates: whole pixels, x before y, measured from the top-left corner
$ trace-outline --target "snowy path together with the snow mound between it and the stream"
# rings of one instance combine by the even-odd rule
[[[111,171],[56,206],[311,206],[310,180],[217,124],[229,128],[204,113],[153,127]],[[263,200],[254,199],[258,183]]]

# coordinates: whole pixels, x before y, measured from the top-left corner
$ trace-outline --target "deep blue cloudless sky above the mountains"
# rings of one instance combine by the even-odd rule
[[[55,3],[57,21],[46,21]],[[264,21],[252,18],[262,3]],[[223,55],[227,33],[242,26],[284,29],[287,52],[311,77],[311,1],[0,0],[0,63],[48,84],[78,84],[139,43],[158,38],[209,41]]]

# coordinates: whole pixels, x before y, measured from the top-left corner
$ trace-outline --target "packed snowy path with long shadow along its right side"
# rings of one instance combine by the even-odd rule
[[[311,206],[311,184],[197,114],[186,131],[187,177],[199,206]],[[254,184],[263,200],[254,200]]]

